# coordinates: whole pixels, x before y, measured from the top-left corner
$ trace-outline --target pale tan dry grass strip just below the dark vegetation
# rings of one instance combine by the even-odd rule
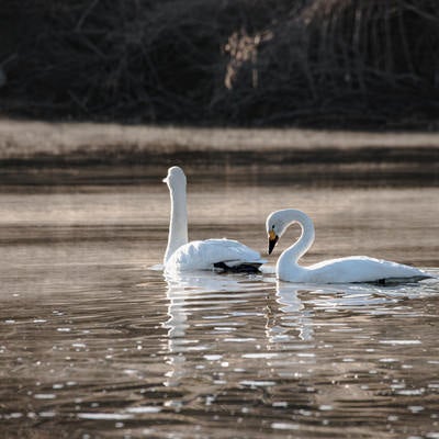
[[[0,160],[117,154],[263,153],[356,150],[363,148],[439,150],[439,134],[372,133],[299,128],[189,128],[93,123],[0,121]]]

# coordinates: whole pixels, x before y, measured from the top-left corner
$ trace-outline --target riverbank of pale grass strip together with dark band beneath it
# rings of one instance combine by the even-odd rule
[[[138,182],[176,164],[201,177],[275,168],[294,181],[437,185],[439,134],[0,121],[2,184]]]

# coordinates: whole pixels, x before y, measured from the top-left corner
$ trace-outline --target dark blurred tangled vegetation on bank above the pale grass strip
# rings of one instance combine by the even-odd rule
[[[437,128],[437,0],[3,0],[0,113]]]

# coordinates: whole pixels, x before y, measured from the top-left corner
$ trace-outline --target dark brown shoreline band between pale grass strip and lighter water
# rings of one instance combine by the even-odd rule
[[[193,182],[215,178],[248,183],[333,187],[438,187],[439,149],[364,147],[270,151],[148,151],[38,155],[0,160],[0,184],[116,185],[160,182],[169,166],[184,168]],[[270,175],[270,178],[266,177]],[[273,179],[273,176],[278,176]]]

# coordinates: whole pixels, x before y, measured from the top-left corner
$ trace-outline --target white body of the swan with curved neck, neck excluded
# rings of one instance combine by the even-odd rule
[[[313,282],[376,282],[386,279],[423,279],[429,275],[417,268],[367,256],[330,259],[306,268]]]

